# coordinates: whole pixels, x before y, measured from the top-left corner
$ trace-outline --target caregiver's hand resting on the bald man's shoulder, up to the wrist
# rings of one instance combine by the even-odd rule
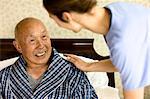
[[[78,58],[77,55],[65,54],[65,56],[67,57],[67,60],[73,63],[78,69],[86,72],[90,70],[90,63]]]

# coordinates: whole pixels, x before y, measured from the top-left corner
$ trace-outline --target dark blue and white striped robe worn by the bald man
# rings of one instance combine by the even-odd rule
[[[0,71],[0,99],[98,99],[84,72],[53,50],[48,70],[32,91],[22,56]]]

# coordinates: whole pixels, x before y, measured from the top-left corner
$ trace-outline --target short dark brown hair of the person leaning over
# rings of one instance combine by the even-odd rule
[[[53,15],[56,15],[62,21],[63,12],[88,12],[96,5],[96,0],[43,0],[45,9]]]

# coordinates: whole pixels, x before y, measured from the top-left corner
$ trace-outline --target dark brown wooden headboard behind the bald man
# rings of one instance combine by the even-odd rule
[[[14,39],[0,39],[0,61],[19,55],[12,42]],[[98,55],[93,48],[94,39],[51,39],[52,46],[61,53],[76,54],[96,60],[108,59]],[[115,87],[114,73],[107,73],[108,85]]]

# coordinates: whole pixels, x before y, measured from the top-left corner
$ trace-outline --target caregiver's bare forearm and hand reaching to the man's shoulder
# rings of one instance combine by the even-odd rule
[[[66,54],[67,60],[72,62],[77,68],[86,72],[116,72],[118,71],[110,59],[87,63],[73,54]]]

